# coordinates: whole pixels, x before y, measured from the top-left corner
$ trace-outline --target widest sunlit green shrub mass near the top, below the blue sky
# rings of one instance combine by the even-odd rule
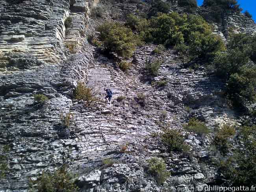
[[[188,51],[192,59],[209,59],[226,49],[224,42],[211,33],[210,25],[202,17],[178,15],[176,12],[150,19],[144,37],[146,42],[176,46],[181,53]]]

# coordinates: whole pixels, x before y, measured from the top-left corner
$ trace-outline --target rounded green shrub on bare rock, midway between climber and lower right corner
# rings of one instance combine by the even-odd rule
[[[163,128],[161,140],[169,147],[171,151],[188,151],[189,146],[185,144],[185,137],[180,129]]]

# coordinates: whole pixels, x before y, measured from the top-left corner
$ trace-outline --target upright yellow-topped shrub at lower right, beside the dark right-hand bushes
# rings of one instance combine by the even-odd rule
[[[228,149],[230,148],[228,139],[233,137],[235,134],[236,129],[234,129],[234,127],[231,127],[227,124],[223,125],[213,139],[213,143],[215,144],[217,150],[221,151],[224,154],[228,152]]]

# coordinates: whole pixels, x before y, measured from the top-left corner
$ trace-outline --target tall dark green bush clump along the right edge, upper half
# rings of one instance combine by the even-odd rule
[[[231,32],[227,47],[228,51],[216,54],[213,64],[216,74],[228,79],[228,98],[241,109],[256,98],[256,67],[249,65],[249,59],[256,61],[256,36]]]

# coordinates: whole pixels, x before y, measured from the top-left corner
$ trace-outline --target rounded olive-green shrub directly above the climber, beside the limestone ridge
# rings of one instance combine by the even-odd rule
[[[100,32],[100,41],[108,52],[116,52],[123,57],[131,57],[139,42],[139,37],[131,29],[120,23],[105,22],[97,29]]]

